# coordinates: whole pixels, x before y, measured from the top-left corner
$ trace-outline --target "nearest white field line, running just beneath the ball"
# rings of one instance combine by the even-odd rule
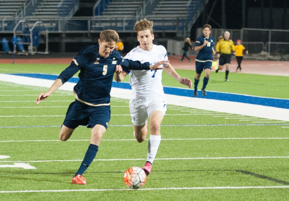
[[[154,190],[203,190],[203,189],[257,189],[257,188],[289,188],[289,186],[215,186],[215,187],[168,187],[168,188],[140,188],[137,191]],[[0,191],[0,193],[47,193],[47,192],[84,192],[84,191],[134,191],[134,189],[62,189],[62,190],[22,190]]]

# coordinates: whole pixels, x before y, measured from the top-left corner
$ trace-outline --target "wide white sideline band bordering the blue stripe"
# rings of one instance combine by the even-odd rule
[[[54,80],[31,78],[2,73],[0,73],[0,81],[13,82],[16,84],[24,84],[29,86],[47,87],[47,88],[49,88],[54,82]],[[66,82],[59,89],[72,91],[74,86],[75,83]],[[116,98],[130,99],[131,90],[112,87],[110,95]],[[289,121],[288,115],[289,109],[269,107],[264,105],[254,105],[249,103],[239,103],[233,101],[221,101],[209,98],[176,96],[171,94],[165,94],[165,96],[167,104],[170,105],[178,105],[183,107],[190,107],[239,115],[247,115],[253,117],[261,117],[266,119]],[[216,107],[216,105],[218,107]]]

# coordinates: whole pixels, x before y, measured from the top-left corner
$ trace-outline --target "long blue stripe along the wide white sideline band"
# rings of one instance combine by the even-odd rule
[[[48,74],[29,74],[29,73],[13,73],[11,75],[19,75],[25,77],[34,77],[41,79],[51,79],[55,80],[58,75],[48,75]],[[79,80],[78,77],[72,77],[68,80],[68,82],[77,83]],[[129,83],[126,82],[112,82],[112,87],[123,88],[123,89],[131,89]],[[183,88],[175,88],[175,87],[164,87],[164,92],[166,94],[177,95],[177,96],[187,96],[193,97],[193,90],[191,89],[183,89]],[[198,91],[201,93],[200,91]],[[200,95],[200,94],[199,94]],[[231,94],[231,93],[223,93],[223,92],[210,92],[207,91],[207,96],[199,96],[199,98],[208,98],[215,99],[221,101],[233,101],[239,103],[249,103],[255,105],[264,105],[270,107],[279,107],[289,109],[289,99],[281,99],[281,98],[266,98],[266,97],[257,97],[257,96],[249,96],[242,94]]]

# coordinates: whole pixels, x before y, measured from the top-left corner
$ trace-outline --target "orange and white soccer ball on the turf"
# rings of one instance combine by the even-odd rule
[[[147,180],[147,175],[144,170],[139,167],[131,167],[125,171],[123,175],[123,181],[125,185],[132,189],[138,189],[142,187]]]

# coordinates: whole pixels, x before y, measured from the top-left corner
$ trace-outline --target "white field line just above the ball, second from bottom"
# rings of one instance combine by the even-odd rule
[[[199,158],[155,158],[155,160],[223,160],[223,159],[264,159],[264,158],[289,158],[289,156],[243,156],[243,157],[199,157]],[[94,159],[93,161],[128,161],[128,160],[145,160],[144,158],[124,158],[124,159]],[[30,161],[0,161],[0,163],[45,163],[45,162],[75,162],[75,160],[30,160]]]

